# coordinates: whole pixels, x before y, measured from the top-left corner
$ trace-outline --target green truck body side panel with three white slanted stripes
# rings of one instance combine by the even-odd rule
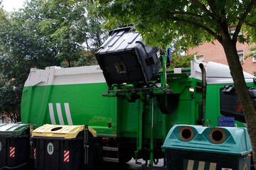
[[[21,103],[22,123],[32,122],[37,126],[88,124],[99,135],[116,134],[117,98],[104,98],[105,91],[105,83],[26,86]]]

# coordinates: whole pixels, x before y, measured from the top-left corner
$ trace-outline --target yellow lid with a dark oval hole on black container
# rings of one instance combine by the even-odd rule
[[[85,129],[84,125],[43,125],[33,130],[32,137],[61,137],[74,139],[78,133]],[[95,130],[89,127],[89,131],[96,136]]]

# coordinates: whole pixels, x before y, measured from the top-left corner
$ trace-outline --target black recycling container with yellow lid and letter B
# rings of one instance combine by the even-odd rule
[[[90,169],[96,132],[90,129],[85,164],[83,125],[43,125],[32,132],[35,169]]]

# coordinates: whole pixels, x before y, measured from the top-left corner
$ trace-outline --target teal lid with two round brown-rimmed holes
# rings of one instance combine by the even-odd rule
[[[162,148],[232,155],[252,152],[246,128],[199,125],[174,125]]]

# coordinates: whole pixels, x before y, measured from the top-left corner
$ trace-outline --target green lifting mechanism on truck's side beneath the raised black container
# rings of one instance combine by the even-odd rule
[[[142,164],[141,162],[138,162],[138,154],[139,151],[142,150],[142,143],[143,143],[143,108],[144,108],[144,102],[151,101],[151,128],[150,128],[150,142],[149,142],[149,164],[146,161],[145,164],[142,164],[142,166],[145,169],[166,169],[165,167],[165,160],[164,160],[164,166],[154,166],[154,164],[158,163],[158,159],[154,159],[154,98],[157,98],[157,103],[162,111],[163,114],[163,127],[166,126],[165,123],[165,114],[171,114],[174,112],[175,107],[171,107],[172,109],[166,108],[166,95],[172,94],[172,90],[169,89],[169,86],[167,84],[167,78],[166,78],[166,62],[170,62],[171,54],[170,49],[168,48],[166,51],[161,51],[161,86],[157,86],[154,81],[149,81],[148,84],[144,85],[142,84],[114,84],[112,86],[109,86],[109,89],[107,91],[107,94],[102,94],[102,96],[105,97],[117,97],[117,96],[124,96],[127,98],[127,101],[129,102],[135,102],[137,99],[138,106],[138,128],[137,128],[137,150],[135,152],[135,163],[136,164]],[[174,97],[174,96],[172,96]],[[177,99],[177,98],[175,98]],[[178,102],[178,100],[175,100]],[[174,102],[175,103],[175,102]],[[176,106],[178,103],[176,103]],[[165,129],[165,128],[163,128]],[[163,130],[164,131],[164,130]],[[166,133],[166,132],[163,132]],[[166,134],[164,134],[166,135]],[[103,148],[104,149],[104,148]]]

